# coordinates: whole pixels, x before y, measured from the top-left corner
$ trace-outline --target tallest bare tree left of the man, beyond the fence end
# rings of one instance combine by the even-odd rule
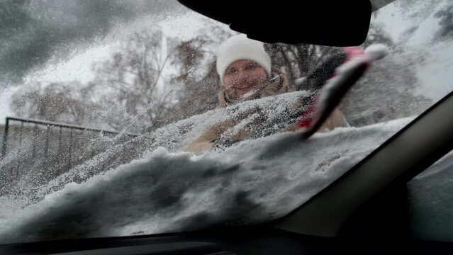
[[[165,40],[160,28],[134,33],[111,60],[97,64],[93,83],[107,90],[100,104],[114,116],[111,128],[145,132],[162,125],[173,99],[162,77],[171,52]]]

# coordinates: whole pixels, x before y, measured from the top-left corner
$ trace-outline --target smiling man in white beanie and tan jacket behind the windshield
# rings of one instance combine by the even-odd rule
[[[246,35],[235,35],[225,40],[217,52],[216,69],[220,79],[218,106],[223,108],[241,101],[274,96],[294,91],[285,74],[271,67],[271,58],[264,50],[262,42],[251,40]],[[219,137],[232,128],[238,120],[227,120],[209,128],[184,151],[200,154],[211,149]],[[345,126],[340,111],[335,110],[320,130],[331,130]],[[298,125],[292,125],[286,131],[294,131]],[[250,132],[241,130],[235,140],[245,140]]]

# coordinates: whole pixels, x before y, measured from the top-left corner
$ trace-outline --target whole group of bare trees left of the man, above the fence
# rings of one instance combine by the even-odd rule
[[[206,73],[202,62],[212,63],[213,52],[205,46],[213,43],[166,38],[157,26],[134,33],[108,60],[94,65],[96,77],[89,84],[34,84],[14,95],[13,108],[22,117],[149,132],[207,110],[191,99],[208,90],[194,86],[205,80],[195,74]],[[170,66],[173,72],[164,76]]]

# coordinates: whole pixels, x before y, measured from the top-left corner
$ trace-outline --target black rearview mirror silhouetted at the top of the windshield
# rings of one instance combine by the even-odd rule
[[[178,0],[209,18],[262,42],[329,46],[361,45],[367,37],[371,3],[356,1]]]

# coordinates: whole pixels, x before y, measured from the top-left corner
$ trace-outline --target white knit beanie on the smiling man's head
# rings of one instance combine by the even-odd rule
[[[271,57],[264,51],[262,42],[247,38],[247,35],[235,35],[225,40],[217,50],[217,73],[223,84],[223,74],[227,67],[236,60],[257,62],[267,74],[271,74]]]

